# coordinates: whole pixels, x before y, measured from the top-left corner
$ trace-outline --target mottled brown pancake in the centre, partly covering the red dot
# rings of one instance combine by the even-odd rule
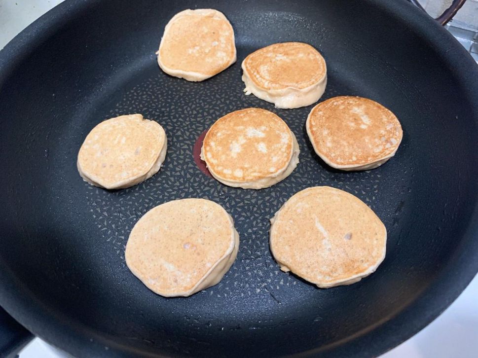
[[[294,133],[276,114],[246,108],[226,114],[209,129],[201,159],[223,184],[261,189],[289,176],[299,162]]]

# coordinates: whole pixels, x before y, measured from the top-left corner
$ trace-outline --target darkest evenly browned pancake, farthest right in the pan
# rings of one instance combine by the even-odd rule
[[[334,97],[312,108],[305,124],[315,152],[341,170],[377,168],[395,155],[402,126],[382,105],[361,97]]]

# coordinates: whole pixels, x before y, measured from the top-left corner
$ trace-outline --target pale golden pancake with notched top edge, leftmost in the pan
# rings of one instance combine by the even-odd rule
[[[101,122],[78,152],[80,176],[91,185],[122,189],[151,178],[166,157],[167,138],[157,122],[141,114]]]

